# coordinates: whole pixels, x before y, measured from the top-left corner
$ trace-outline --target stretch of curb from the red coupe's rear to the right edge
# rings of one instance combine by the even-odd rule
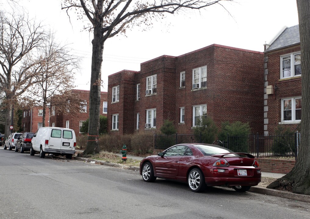
[[[304,201],[304,202],[310,203],[310,196],[308,195],[296,194],[296,193],[277,190],[277,189],[268,189],[268,188],[260,187],[260,186],[252,186],[249,192],[256,192],[260,194],[278,196],[282,198],[293,199],[293,200]]]

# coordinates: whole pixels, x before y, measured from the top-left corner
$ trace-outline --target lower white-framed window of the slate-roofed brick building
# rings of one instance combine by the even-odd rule
[[[301,97],[282,99],[281,108],[283,122],[299,122],[301,120]]]

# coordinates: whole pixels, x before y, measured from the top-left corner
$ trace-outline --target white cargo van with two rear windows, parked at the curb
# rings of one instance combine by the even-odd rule
[[[45,153],[65,155],[71,159],[75,154],[76,138],[73,129],[58,127],[42,127],[37,130],[31,140],[30,155],[36,151],[40,152],[40,158],[45,157]]]

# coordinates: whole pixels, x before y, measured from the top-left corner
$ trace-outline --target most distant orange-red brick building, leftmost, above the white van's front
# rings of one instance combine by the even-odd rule
[[[46,108],[45,126],[49,126],[50,109]],[[24,132],[36,132],[42,127],[43,107],[34,106],[31,109],[24,110],[22,115],[22,125]]]

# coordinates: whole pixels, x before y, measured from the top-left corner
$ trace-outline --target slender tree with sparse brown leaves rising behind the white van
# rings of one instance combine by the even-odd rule
[[[77,97],[69,94],[73,88],[74,75],[79,68],[80,58],[72,56],[67,46],[58,44],[53,33],[47,36],[37,53],[37,64],[29,69],[37,83],[29,87],[28,95],[23,100],[27,104],[43,106],[42,126],[45,127],[46,107],[51,102],[52,96],[62,95],[57,101],[58,109],[60,105],[70,107],[78,101]]]

